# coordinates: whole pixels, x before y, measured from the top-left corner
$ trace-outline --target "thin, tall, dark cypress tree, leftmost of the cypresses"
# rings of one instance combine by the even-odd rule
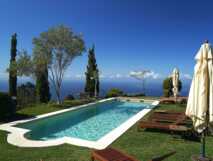
[[[10,50],[10,66],[16,63],[16,52],[17,52],[17,34],[12,35],[11,39],[11,50]],[[12,70],[9,72],[9,95],[12,97],[17,96],[17,71]]]

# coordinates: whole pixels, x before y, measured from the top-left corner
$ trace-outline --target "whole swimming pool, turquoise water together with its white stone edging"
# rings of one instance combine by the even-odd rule
[[[18,122],[11,128],[21,131],[23,141],[31,142],[31,146],[57,145],[56,142],[72,142],[71,144],[77,145],[78,142],[80,146],[83,144],[86,147],[97,148],[101,146],[101,142],[107,140],[110,144],[154,106],[155,104],[151,103],[107,99]],[[104,144],[106,146],[106,143]]]

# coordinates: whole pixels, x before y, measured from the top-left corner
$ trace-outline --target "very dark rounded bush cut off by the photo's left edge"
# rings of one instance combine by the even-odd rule
[[[15,102],[7,93],[0,92],[0,120],[11,117],[16,111]]]

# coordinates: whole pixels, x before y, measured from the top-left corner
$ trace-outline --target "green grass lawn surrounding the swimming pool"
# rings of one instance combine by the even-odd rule
[[[19,111],[22,115],[35,115],[61,109],[43,105]],[[185,105],[160,105],[156,110],[184,111]],[[72,145],[61,145],[48,148],[19,148],[6,141],[6,132],[0,131],[1,161],[88,161],[90,149]],[[141,161],[160,156],[172,150],[177,153],[165,161],[189,161],[192,154],[199,154],[200,143],[174,138],[160,132],[137,131],[137,124],[130,128],[112,145]],[[207,138],[207,154],[213,157],[213,137]]]

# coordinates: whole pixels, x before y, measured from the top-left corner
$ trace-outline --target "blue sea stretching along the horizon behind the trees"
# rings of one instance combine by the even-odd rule
[[[145,93],[146,96],[162,96],[163,87],[162,80],[160,81],[146,81],[145,85],[142,85],[140,81],[100,81],[100,96],[104,97],[111,88],[119,88],[126,94],[139,94]],[[18,85],[25,83],[25,81],[19,81]],[[181,96],[188,96],[190,81],[182,81],[182,90],[180,92]],[[85,81],[82,80],[66,80],[63,82],[61,88],[62,98],[68,94],[72,94],[78,97],[81,92],[84,91]],[[56,98],[55,92],[52,86],[51,95],[52,99]],[[0,80],[0,91],[8,91],[8,81]]]

